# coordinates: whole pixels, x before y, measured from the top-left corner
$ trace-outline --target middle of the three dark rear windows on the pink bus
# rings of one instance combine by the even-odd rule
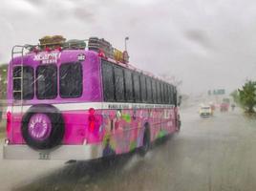
[[[57,96],[57,67],[55,65],[37,67],[36,96],[38,99],[52,99]]]

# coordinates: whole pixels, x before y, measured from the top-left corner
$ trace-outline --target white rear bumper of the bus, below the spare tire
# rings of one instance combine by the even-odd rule
[[[101,144],[60,145],[53,150],[34,150],[28,145],[5,144],[4,159],[75,159],[88,160],[102,157]]]

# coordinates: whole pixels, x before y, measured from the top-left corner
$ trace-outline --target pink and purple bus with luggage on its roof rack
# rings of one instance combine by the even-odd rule
[[[96,37],[13,47],[4,158],[144,155],[152,141],[179,131],[176,87],[128,59]]]

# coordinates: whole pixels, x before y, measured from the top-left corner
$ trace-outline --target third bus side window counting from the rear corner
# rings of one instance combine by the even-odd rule
[[[131,71],[124,70],[125,99],[128,102],[134,101],[133,78]]]

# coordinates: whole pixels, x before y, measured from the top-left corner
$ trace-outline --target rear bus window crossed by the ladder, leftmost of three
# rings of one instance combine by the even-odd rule
[[[34,95],[33,91],[33,69],[30,66],[23,66],[23,85],[21,87],[21,73],[22,68],[17,66],[13,69],[13,98],[32,99]]]

